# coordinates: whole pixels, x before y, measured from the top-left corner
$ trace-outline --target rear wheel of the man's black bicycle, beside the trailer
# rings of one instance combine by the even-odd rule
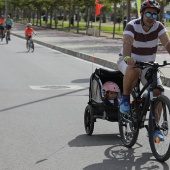
[[[130,115],[123,115],[119,113],[119,132],[122,139],[122,143],[126,147],[132,147],[138,138],[139,126],[137,123],[136,115],[139,114],[139,105],[134,102],[135,93],[132,92],[130,96],[131,100],[131,113]]]

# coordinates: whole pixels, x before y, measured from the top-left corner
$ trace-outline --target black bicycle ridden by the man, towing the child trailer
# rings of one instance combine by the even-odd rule
[[[170,65],[167,61],[164,61],[163,64],[136,63],[137,68],[149,67],[145,75],[147,83],[141,89],[140,79],[138,80],[130,95],[130,114],[119,113],[118,118],[120,136],[124,146],[131,148],[137,141],[139,129],[145,127],[148,131],[151,151],[160,162],[164,162],[170,157],[170,100],[164,95],[164,88],[157,85],[157,72],[160,67],[167,65]],[[153,97],[154,89],[159,89],[161,95]],[[145,90],[148,90],[147,93],[144,93]],[[148,125],[145,125],[147,112],[149,112],[149,122]],[[155,130],[162,132],[164,141],[154,138]]]

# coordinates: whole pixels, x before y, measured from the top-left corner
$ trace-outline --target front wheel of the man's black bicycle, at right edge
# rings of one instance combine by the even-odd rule
[[[170,100],[159,96],[154,101],[154,115],[149,116],[149,143],[154,157],[161,162],[170,157]],[[154,136],[155,132],[163,135],[161,140]]]

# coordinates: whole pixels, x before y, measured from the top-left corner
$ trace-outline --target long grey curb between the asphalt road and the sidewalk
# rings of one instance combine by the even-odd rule
[[[23,37],[21,35],[18,35],[18,34],[15,34],[15,33],[11,33],[11,34],[16,36],[16,37],[25,39],[25,37]],[[34,42],[37,43],[37,44],[40,44],[42,46],[45,46],[45,47],[60,51],[62,53],[71,55],[73,57],[77,57],[77,58],[92,62],[93,56],[91,56],[91,55],[79,53],[79,52],[74,51],[74,50],[69,50],[69,49],[65,49],[65,48],[62,48],[62,47],[55,46],[55,45],[47,44],[47,43],[44,43],[44,42],[41,42],[41,41],[38,41],[38,40],[35,40],[35,39],[34,39]],[[103,67],[108,67],[110,69],[117,70],[117,63],[106,61],[106,60],[97,58],[95,56],[94,56],[94,63],[99,64]],[[161,76],[161,80],[162,80],[162,84],[164,86],[170,87],[170,78]]]

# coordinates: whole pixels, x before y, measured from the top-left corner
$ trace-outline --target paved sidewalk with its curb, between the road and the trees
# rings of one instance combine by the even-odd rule
[[[103,67],[117,69],[116,61],[122,46],[122,38],[120,36],[113,39],[73,34],[36,26],[33,26],[33,28],[37,33],[33,39],[38,44],[87,61],[92,61],[94,56],[94,63],[100,64]],[[25,38],[24,30],[25,25],[15,23],[11,33],[20,38]],[[164,60],[170,62],[170,56],[162,46],[159,46],[157,62],[162,63]],[[165,77],[164,85],[170,87],[170,72],[167,71],[167,68],[161,71]]]

